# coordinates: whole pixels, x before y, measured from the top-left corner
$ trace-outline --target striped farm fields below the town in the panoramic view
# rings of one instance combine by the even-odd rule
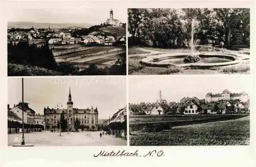
[[[79,68],[86,68],[92,63],[109,66],[114,64],[117,59],[126,61],[123,47],[84,45],[52,45],[51,47],[54,47],[53,54],[57,62],[73,64]]]

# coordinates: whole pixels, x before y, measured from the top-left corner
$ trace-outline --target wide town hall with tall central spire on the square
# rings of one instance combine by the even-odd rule
[[[44,108],[45,115],[45,127],[46,130],[53,129],[57,126],[61,114],[65,116],[65,120],[68,121],[69,131],[74,131],[74,122],[79,120],[80,125],[89,127],[88,130],[97,130],[98,126],[98,108],[91,107],[87,109],[78,109],[73,107],[73,101],[71,97],[71,91],[69,89],[69,97],[67,102],[67,108],[57,106],[57,108]]]

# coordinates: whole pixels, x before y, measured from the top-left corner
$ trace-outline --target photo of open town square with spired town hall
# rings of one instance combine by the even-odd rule
[[[8,146],[127,146],[125,77],[8,78]]]

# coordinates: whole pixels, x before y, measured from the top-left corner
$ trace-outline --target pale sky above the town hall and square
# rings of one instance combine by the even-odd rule
[[[99,118],[109,118],[126,105],[125,78],[24,78],[24,102],[36,113],[43,114],[44,107],[57,107],[58,103],[67,108],[69,86],[74,108],[98,107]],[[22,79],[8,78],[8,103],[22,102]]]

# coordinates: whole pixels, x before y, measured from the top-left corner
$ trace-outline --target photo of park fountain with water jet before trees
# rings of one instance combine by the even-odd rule
[[[129,75],[250,73],[249,8],[127,12]]]

